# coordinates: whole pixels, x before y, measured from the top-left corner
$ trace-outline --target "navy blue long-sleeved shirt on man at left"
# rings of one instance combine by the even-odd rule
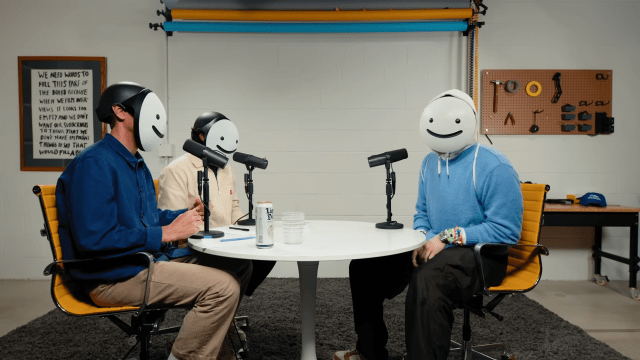
[[[120,258],[146,251],[158,260],[183,256],[189,250],[162,243],[162,226],[186,209],[160,211],[151,172],[139,153],[118,139],[104,139],[81,152],[67,166],[56,186],[60,244],[63,258]],[[83,280],[115,281],[136,275],[142,258],[109,264],[89,262],[68,266],[71,276]]]

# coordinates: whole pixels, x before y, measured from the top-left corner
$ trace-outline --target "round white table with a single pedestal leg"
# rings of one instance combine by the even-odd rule
[[[237,226],[242,227],[242,226]],[[274,246],[258,249],[255,227],[239,231],[221,227],[218,239],[189,239],[194,250],[240,259],[297,261],[300,274],[300,303],[302,317],[302,360],[317,360],[315,339],[315,303],[318,262],[352,260],[399,254],[414,250],[425,242],[419,231],[377,229],[374,223],[355,221],[305,221],[304,240],[301,244],[285,244],[282,222],[274,224]],[[250,239],[243,239],[250,237]]]

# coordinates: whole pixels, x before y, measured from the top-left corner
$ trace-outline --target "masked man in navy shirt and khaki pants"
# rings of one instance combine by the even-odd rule
[[[139,306],[151,271],[147,304],[192,306],[169,359],[219,358],[240,298],[244,272],[213,267],[207,255],[171,242],[197,233],[204,208],[158,210],[151,173],[138,150],[149,151],[166,133],[166,113],[149,89],[109,86],[96,113],[111,127],[104,139],[78,154],[58,179],[60,243],[65,259],[106,258],[65,266],[98,306]],[[150,269],[137,252],[153,254]],[[68,264],[71,265],[71,264]]]

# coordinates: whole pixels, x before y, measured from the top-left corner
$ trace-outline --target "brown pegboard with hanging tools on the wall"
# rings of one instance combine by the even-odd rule
[[[556,95],[554,75],[560,73],[562,94],[557,103],[552,100]],[[482,134],[502,135],[593,135],[596,112],[612,116],[612,70],[483,70],[482,77]],[[494,112],[494,83],[502,85],[497,89],[497,108]],[[507,82],[517,80],[520,88],[515,92],[507,91]],[[540,83],[540,94],[527,94],[530,82]],[[513,89],[513,86],[511,87]],[[530,92],[535,94],[534,85]],[[564,105],[573,105],[574,111],[563,112]],[[534,111],[537,132],[531,132],[534,125]],[[579,114],[586,111],[591,114],[589,120],[579,120]],[[513,115],[513,122],[508,118]],[[573,114],[572,120],[563,120],[563,114]],[[588,116],[588,115],[587,115]],[[506,121],[506,124],[505,124]],[[571,131],[562,131],[562,125],[575,125]],[[590,125],[588,131],[579,131],[578,125]]]

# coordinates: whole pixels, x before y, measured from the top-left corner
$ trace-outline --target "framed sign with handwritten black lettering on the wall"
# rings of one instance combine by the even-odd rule
[[[94,109],[106,72],[104,57],[18,57],[20,170],[62,171],[104,137]]]

